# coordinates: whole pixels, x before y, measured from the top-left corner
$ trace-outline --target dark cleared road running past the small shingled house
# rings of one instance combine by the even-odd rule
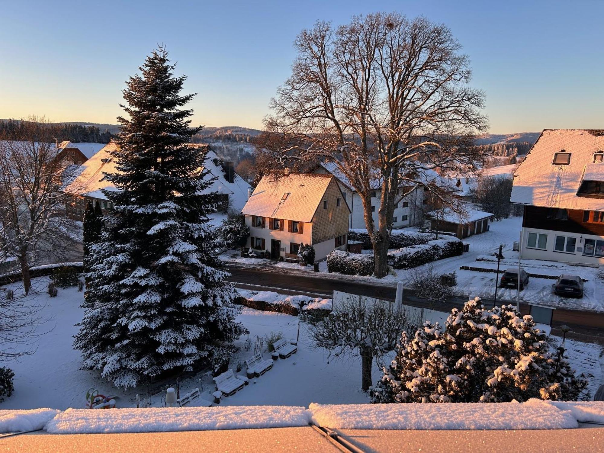
[[[349,292],[351,294],[376,297],[379,299],[394,301],[396,288],[394,286],[377,285],[346,278],[332,276],[316,277],[309,272],[295,272],[283,268],[252,268],[246,266],[228,266],[231,272],[230,281],[240,284],[246,289],[260,289],[262,291],[286,292],[286,294],[307,294],[316,297],[333,295],[333,291]],[[604,296],[603,296],[604,297]],[[462,307],[467,301],[466,297],[454,296],[445,304],[429,306],[425,300],[414,295],[411,290],[403,293],[403,303],[415,306],[439,310],[451,311],[452,307]],[[493,301],[483,299],[485,306],[493,306]],[[498,301],[503,303],[503,301]],[[507,303],[515,303],[507,301]],[[523,314],[528,314],[530,307],[520,304]],[[559,327],[567,324],[571,327],[569,338],[583,341],[596,341],[604,344],[604,313],[586,312],[580,310],[556,309],[553,314],[552,333],[562,335]]]

